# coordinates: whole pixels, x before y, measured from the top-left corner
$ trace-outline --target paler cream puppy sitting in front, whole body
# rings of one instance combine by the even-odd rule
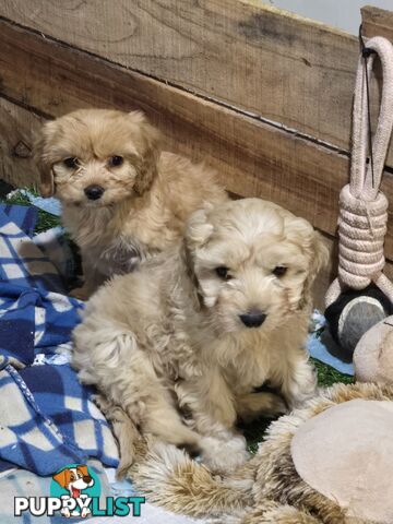
[[[171,255],[115,277],[87,302],[74,331],[79,377],[143,434],[231,469],[247,457],[238,418],[282,413],[314,393],[305,343],[326,257],[310,224],[273,203],[198,211]],[[258,391],[267,381],[279,395]]]

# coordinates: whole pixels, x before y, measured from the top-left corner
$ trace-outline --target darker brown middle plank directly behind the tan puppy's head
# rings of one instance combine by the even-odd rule
[[[335,234],[345,155],[4,21],[0,64],[0,95],[48,117],[92,106],[143,109],[167,148],[215,167],[229,191],[273,200]],[[392,198],[392,177],[383,188]],[[386,250],[393,257],[391,230]]]

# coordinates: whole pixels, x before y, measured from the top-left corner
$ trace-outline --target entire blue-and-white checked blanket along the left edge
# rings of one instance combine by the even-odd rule
[[[116,466],[116,442],[92,391],[64,364],[81,302],[64,295],[61,276],[33,242],[35,218],[31,207],[0,206],[2,469],[12,463],[50,475],[88,457]]]

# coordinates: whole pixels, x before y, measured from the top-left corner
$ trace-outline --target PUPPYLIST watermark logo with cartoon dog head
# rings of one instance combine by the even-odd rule
[[[100,498],[96,473],[84,464],[70,464],[52,476],[50,497],[15,497],[14,514],[34,516],[141,516],[144,497]]]

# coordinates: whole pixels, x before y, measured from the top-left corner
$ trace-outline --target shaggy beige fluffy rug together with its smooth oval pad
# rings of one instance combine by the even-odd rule
[[[392,472],[390,471],[392,461],[386,461],[386,465],[381,461],[381,456],[383,457],[385,451],[381,441],[376,439],[370,443],[370,440],[366,439],[368,446],[366,450],[361,449],[360,441],[354,442],[354,446],[352,448],[347,445],[348,439],[355,438],[356,440],[357,437],[354,437],[354,431],[348,432],[348,428],[344,427],[345,425],[341,426],[338,424],[335,429],[333,428],[333,432],[332,427],[330,427],[327,431],[329,425],[336,424],[334,420],[337,416],[335,406],[347,403],[348,405],[353,404],[359,408],[358,402],[349,402],[355,400],[378,401],[381,403],[381,408],[382,406],[385,408],[385,402],[391,403],[393,401],[393,388],[380,388],[376,384],[336,384],[331,389],[322,391],[320,395],[310,401],[303,409],[298,409],[273,422],[257,455],[236,472],[236,474],[228,477],[213,476],[206,467],[191,460],[184,452],[157,442],[148,443],[148,445],[143,449],[143,452],[141,451],[141,458],[133,466],[132,471],[129,472],[129,475],[132,477],[139,490],[147,496],[150,502],[190,516],[207,516],[215,523],[388,524],[392,521],[374,520],[372,511],[365,512],[361,510],[364,513],[369,514],[360,514],[359,508],[355,508],[355,510],[354,508],[349,508],[350,504],[345,498],[347,493],[345,497],[343,496],[341,502],[338,502],[340,497],[335,497],[334,490],[326,493],[326,483],[323,485],[323,489],[321,485],[318,484],[321,479],[325,481],[323,471],[325,471],[325,476],[330,476],[333,480],[337,478],[335,472],[332,474],[331,465],[334,462],[335,468],[343,468],[343,475],[346,477],[348,486],[352,480],[354,486],[358,486],[359,479],[356,478],[356,471],[358,469],[356,469],[356,467],[358,467],[359,463],[364,464],[366,472],[368,464],[367,461],[365,461],[365,456],[369,456],[370,461],[373,461],[373,464],[378,462],[378,467],[381,468],[381,478],[383,476],[386,478],[386,475],[390,475],[390,478],[392,478]],[[367,408],[369,407],[371,407],[371,405],[367,405]],[[390,404],[388,407],[390,412]],[[310,446],[310,461],[303,460],[305,456],[307,456],[305,449],[301,453],[299,452],[299,449],[305,445],[307,439],[300,439],[300,448],[297,446],[297,466],[302,475],[305,475],[305,464],[307,464],[306,476],[308,481],[306,483],[298,474],[294,463],[291,453],[293,440],[298,433],[299,428],[306,427],[305,425],[308,420],[313,419],[314,422],[318,415],[322,413],[327,415],[329,412],[334,415],[332,419],[323,420],[321,418],[322,425],[327,424],[327,426],[325,426],[326,442],[324,442],[321,437],[321,434],[323,434],[321,427],[323,429],[323,426],[317,425],[318,432],[315,434],[319,436],[320,442],[314,442],[315,445]],[[367,419],[367,416],[369,416],[367,413],[370,415],[369,409],[366,409],[366,418],[361,419],[360,425],[358,424],[359,421],[355,419],[354,424],[356,422],[358,428],[364,426],[367,428],[366,433],[372,434],[370,428],[377,422],[372,416],[369,421]],[[347,418],[348,416],[346,413],[345,417]],[[360,416],[361,413],[359,414],[357,410],[356,417],[359,418]],[[377,418],[379,418],[383,428],[383,417],[381,418],[377,415]],[[340,422],[340,416],[337,420]],[[312,424],[312,426],[314,424]],[[310,430],[311,429],[310,427]],[[376,434],[378,428],[376,427]],[[308,434],[308,431],[306,431],[305,434]],[[332,445],[329,452],[324,453],[324,445],[331,442],[332,434],[341,434],[341,442],[343,444],[345,443],[347,452],[355,450],[359,461],[357,456],[350,456],[347,461],[342,460],[340,463],[334,461],[334,446]],[[343,458],[340,438],[335,439],[334,445],[337,446],[337,453],[340,452]],[[317,455],[313,456],[313,453],[317,453]],[[299,461],[300,455],[302,465],[300,464],[301,461]],[[378,457],[378,461],[376,457]],[[325,460],[323,461],[323,458]],[[352,478],[350,465],[354,464],[356,467],[354,469],[354,478]],[[315,467],[313,467],[313,465]],[[318,475],[313,475],[315,472]],[[373,471],[372,475],[377,473]],[[362,481],[364,480],[365,478],[362,477]],[[324,490],[325,495],[320,492],[321,489]],[[349,492],[350,499],[350,489],[347,489],[347,492]],[[365,493],[366,491],[362,492],[362,497]],[[372,497],[376,497],[376,492],[372,492]],[[369,500],[369,504],[365,504],[365,500],[362,501],[362,508],[372,505],[372,497]],[[385,499],[388,501],[388,498]],[[383,497],[380,498],[380,500],[383,500]],[[386,516],[386,511],[390,511],[389,504],[386,508],[379,508],[379,511],[374,513],[382,515],[382,519],[390,519]]]

